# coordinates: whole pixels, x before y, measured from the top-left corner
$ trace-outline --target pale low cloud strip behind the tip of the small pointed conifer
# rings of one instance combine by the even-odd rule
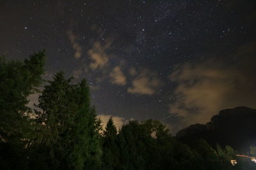
[[[112,117],[112,120],[116,126],[116,129],[121,129],[122,125],[126,124],[129,120],[125,120],[124,117],[113,117],[112,115],[97,115],[100,120],[102,120],[103,129],[106,127],[108,120]]]

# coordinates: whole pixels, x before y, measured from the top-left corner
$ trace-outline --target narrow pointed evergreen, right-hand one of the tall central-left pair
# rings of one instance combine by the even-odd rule
[[[78,111],[72,129],[74,152],[71,162],[77,162],[75,169],[99,169],[101,164],[100,120],[96,118],[95,108],[90,106],[90,92],[86,80],[77,87]]]

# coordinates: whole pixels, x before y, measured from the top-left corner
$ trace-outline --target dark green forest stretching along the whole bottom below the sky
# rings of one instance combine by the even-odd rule
[[[90,104],[86,80],[64,73],[43,80],[45,52],[0,58],[0,169],[255,169],[236,148],[194,138],[184,143],[157,120],[105,128]],[[44,88],[42,91],[39,87]],[[36,109],[28,97],[40,93]],[[251,147],[251,156],[256,148]],[[237,160],[236,166],[230,160]]]

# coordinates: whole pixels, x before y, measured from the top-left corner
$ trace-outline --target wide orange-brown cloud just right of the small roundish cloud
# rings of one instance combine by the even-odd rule
[[[132,87],[129,87],[127,91],[132,94],[153,95],[160,85],[161,81],[157,74],[145,69],[132,80]]]

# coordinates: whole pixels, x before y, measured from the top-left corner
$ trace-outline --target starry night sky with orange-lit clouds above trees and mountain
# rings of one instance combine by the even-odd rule
[[[1,0],[0,55],[24,59],[45,49],[44,78],[58,71],[86,78],[102,120],[113,116],[120,127],[153,118],[175,133],[221,109],[256,108],[255,7],[253,0]]]

